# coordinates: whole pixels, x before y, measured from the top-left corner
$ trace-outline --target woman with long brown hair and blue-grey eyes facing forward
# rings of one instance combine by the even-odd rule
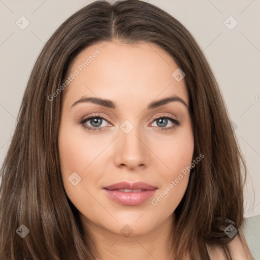
[[[246,166],[216,80],[151,4],[97,1],[61,24],[1,174],[2,260],[252,259]]]

